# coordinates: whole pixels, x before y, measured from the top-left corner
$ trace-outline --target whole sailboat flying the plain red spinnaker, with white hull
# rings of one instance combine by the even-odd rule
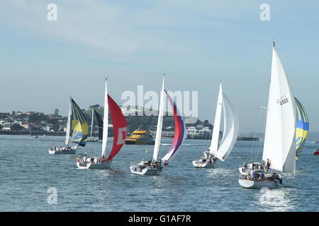
[[[108,141],[108,111],[111,114],[113,124],[113,147],[110,155],[105,157],[106,144]],[[125,143],[126,134],[128,132],[128,124],[123,115],[123,112],[116,102],[108,95],[107,80],[105,83],[105,98],[104,98],[104,115],[103,115],[103,141],[101,157],[89,157],[77,159],[77,167],[79,169],[108,169],[111,167],[113,157],[118,154]]]

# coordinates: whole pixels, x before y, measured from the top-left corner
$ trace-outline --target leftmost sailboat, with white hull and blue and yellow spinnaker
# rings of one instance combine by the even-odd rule
[[[72,131],[72,137],[69,134]],[[69,114],[67,117],[67,131],[65,133],[65,147],[50,148],[50,154],[74,154],[77,146],[84,147],[87,141],[89,126],[82,110],[77,103],[70,97]],[[69,147],[69,143],[77,143],[77,146]]]

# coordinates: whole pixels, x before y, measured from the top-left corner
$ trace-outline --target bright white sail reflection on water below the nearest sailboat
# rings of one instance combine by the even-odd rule
[[[264,211],[291,211],[295,209],[296,189],[260,189],[255,197]]]

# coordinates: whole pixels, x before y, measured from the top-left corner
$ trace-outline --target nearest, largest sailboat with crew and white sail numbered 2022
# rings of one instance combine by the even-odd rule
[[[262,163],[250,164],[247,174],[242,175],[238,182],[246,189],[276,189],[282,181],[280,172],[294,173],[295,164],[296,102],[284,68],[273,47]],[[247,166],[243,166],[240,171],[245,171],[244,168]],[[268,169],[274,172],[268,173]]]

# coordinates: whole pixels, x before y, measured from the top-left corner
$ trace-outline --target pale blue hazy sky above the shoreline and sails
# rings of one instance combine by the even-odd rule
[[[57,20],[47,20],[56,4]],[[269,5],[262,21],[261,4]],[[305,1],[0,0],[0,112],[119,105],[127,90],[198,91],[213,122],[220,81],[240,132],[264,131],[272,42],[310,131],[319,131],[319,4]]]

